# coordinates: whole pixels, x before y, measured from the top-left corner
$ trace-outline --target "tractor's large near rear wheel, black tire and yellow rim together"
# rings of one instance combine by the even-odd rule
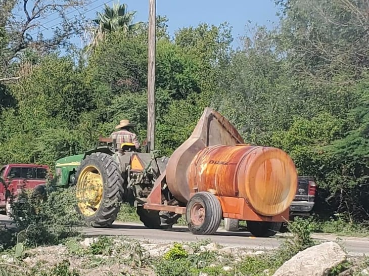
[[[87,156],[78,167],[76,182],[76,210],[87,225],[110,226],[124,197],[124,180],[114,159],[101,152]]]

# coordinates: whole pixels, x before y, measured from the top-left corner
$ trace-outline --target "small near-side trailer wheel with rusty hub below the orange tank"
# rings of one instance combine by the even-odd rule
[[[209,192],[196,193],[187,203],[186,220],[195,235],[214,234],[222,219],[219,200]]]

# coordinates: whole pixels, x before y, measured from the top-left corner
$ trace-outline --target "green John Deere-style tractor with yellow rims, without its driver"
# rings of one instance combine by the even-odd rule
[[[143,205],[156,179],[165,171],[168,159],[139,152],[134,144],[117,144],[115,140],[100,137],[96,148],[59,159],[56,175],[60,186],[76,186],[76,210],[89,226],[110,226],[121,203],[129,203],[136,207],[146,227],[165,229],[181,215],[144,209]],[[167,201],[173,200],[168,188],[163,188],[162,195]]]

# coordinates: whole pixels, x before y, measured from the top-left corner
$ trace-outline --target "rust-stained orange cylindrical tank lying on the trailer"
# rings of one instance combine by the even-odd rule
[[[244,198],[264,216],[289,208],[297,189],[291,157],[280,149],[261,146],[207,147],[192,160],[187,178],[190,193]]]

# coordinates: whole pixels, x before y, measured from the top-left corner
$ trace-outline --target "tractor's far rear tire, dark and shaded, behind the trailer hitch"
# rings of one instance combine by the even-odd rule
[[[136,213],[140,216],[141,222],[151,229],[171,228],[181,217],[173,212],[147,210],[142,206],[137,207]]]

